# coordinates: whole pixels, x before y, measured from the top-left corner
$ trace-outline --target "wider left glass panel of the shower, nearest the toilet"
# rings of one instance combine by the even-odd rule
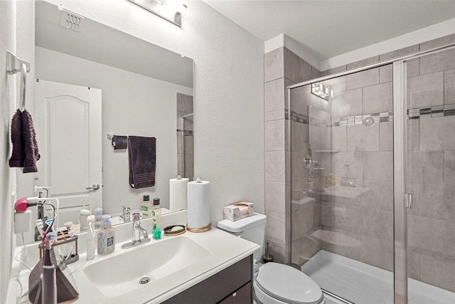
[[[392,304],[392,65],[317,85],[291,89],[291,261],[327,297]]]

